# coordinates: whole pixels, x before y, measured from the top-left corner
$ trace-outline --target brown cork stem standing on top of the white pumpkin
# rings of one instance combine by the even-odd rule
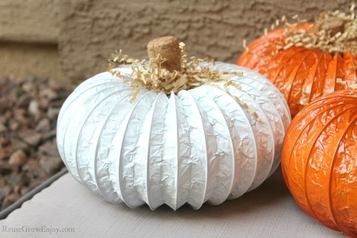
[[[161,63],[161,68],[165,68],[172,72],[173,70],[181,71],[181,49],[179,41],[173,36],[164,36],[151,40],[147,44],[147,54],[150,59],[150,65],[160,65],[162,59],[166,59]],[[161,55],[158,58],[158,55]]]

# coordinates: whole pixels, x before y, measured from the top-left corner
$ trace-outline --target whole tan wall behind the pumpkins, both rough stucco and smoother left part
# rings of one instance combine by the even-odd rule
[[[174,35],[186,43],[190,56],[235,63],[243,50],[242,39],[252,41],[282,15],[312,20],[321,10],[348,11],[349,4],[347,0],[2,0],[0,54],[17,51],[21,56],[32,50],[29,64],[37,65],[34,69],[58,77],[63,73],[64,80],[80,82],[105,71],[115,49],[143,59],[149,40]],[[21,48],[26,39],[36,45]],[[42,47],[44,43],[48,47]],[[40,59],[35,60],[35,52],[41,52]]]

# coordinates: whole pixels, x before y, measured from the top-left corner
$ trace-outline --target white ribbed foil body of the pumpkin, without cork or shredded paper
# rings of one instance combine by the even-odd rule
[[[198,209],[257,188],[280,162],[291,118],[283,95],[264,76],[217,62],[212,70],[241,86],[201,85],[177,95],[134,92],[104,72],[79,85],[57,124],[59,153],[69,172],[91,192],[130,207],[185,203]],[[130,66],[117,68],[130,78]]]

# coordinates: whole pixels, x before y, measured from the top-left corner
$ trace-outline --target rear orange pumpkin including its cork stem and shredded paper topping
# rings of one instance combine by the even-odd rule
[[[285,96],[293,117],[313,99],[346,89],[336,78],[351,83],[356,77],[357,33],[351,26],[357,19],[335,15],[324,12],[315,23],[285,22],[248,45],[237,61],[269,78]]]

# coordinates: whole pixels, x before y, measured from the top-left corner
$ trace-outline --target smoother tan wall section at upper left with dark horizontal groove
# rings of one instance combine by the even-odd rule
[[[0,0],[0,76],[69,82],[58,56],[61,0]]]

